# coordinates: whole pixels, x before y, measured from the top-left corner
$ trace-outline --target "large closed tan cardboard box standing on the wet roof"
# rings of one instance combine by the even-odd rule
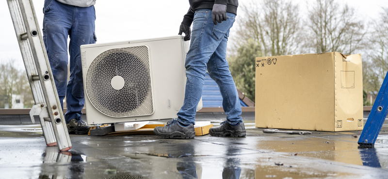
[[[256,58],[256,127],[363,129],[361,54]]]

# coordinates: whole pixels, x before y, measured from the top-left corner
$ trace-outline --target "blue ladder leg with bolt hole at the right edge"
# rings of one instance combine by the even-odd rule
[[[388,113],[388,74],[386,75],[383,85],[377,94],[374,101],[371,113],[365,123],[364,130],[358,139],[358,145],[365,147],[373,147],[377,136],[380,133],[384,120]]]

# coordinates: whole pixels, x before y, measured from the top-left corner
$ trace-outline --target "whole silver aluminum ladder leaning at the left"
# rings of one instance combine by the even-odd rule
[[[32,123],[39,116],[46,144],[67,151],[70,137],[32,0],[7,3],[35,101],[30,111]]]

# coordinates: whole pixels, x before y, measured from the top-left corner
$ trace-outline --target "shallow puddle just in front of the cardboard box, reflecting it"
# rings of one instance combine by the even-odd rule
[[[290,140],[285,136],[279,136],[276,140],[264,140],[257,144],[258,149],[266,149],[275,152],[284,152],[285,155],[297,155],[324,159],[346,164],[365,165],[372,167],[388,168],[388,164],[384,162],[381,166],[380,161],[387,161],[388,153],[385,147],[377,149],[357,149],[357,142],[346,141],[342,138],[327,139],[327,138],[308,138],[297,139],[292,137]],[[348,140],[356,140],[349,139]],[[378,151],[383,151],[379,154]],[[379,160],[380,158],[380,160]]]

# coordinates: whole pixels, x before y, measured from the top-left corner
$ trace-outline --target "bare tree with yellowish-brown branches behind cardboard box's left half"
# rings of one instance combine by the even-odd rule
[[[264,56],[287,55],[295,52],[302,38],[298,5],[290,0],[261,0],[241,5],[234,50],[253,39],[261,45]]]

